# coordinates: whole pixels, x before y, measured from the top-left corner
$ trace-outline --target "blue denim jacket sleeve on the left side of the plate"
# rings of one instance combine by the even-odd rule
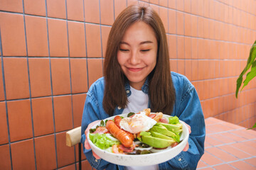
[[[92,155],[92,149],[85,149],[85,130],[87,126],[95,120],[100,120],[99,106],[97,100],[95,99],[95,96],[92,95],[92,93],[88,92],[85,100],[84,110],[82,113],[81,143],[87,161],[91,164],[93,168],[101,170],[106,169],[108,166],[111,166],[110,162],[106,162],[103,159],[95,159],[95,157],[93,157]]]

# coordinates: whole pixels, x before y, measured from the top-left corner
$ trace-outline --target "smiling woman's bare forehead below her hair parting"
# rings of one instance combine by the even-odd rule
[[[127,28],[124,32],[122,41],[129,42],[142,42],[142,41],[152,41],[156,42],[156,34],[154,29],[149,26],[149,24],[143,21],[137,21],[132,23],[131,26]]]

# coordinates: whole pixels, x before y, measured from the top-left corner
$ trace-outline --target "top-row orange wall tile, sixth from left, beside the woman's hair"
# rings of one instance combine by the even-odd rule
[[[109,26],[114,23],[114,4],[112,0],[100,0],[100,23]]]

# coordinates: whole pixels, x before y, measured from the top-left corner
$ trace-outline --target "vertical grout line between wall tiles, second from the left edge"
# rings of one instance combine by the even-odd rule
[[[28,62],[28,40],[27,40],[27,33],[26,33],[26,17],[25,17],[25,6],[24,0],[22,0],[22,7],[23,7],[23,24],[24,24],[24,31],[25,31],[25,45],[26,45],[26,62],[27,62],[27,69],[28,69],[28,89],[29,89],[29,101],[30,101],[30,108],[31,108],[31,123],[32,123],[32,135],[33,135],[33,152],[34,152],[34,160],[35,160],[35,168],[37,169],[36,164],[36,141],[35,141],[35,130],[33,124],[33,107],[32,107],[32,99],[31,99],[31,79],[30,79],[30,72],[29,72],[29,62]]]

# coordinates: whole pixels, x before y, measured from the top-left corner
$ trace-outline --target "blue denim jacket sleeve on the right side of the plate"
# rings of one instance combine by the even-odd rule
[[[182,93],[175,115],[191,126],[191,134],[188,138],[189,149],[187,152],[181,152],[168,163],[173,169],[196,169],[204,152],[206,127],[196,89],[188,79],[184,80],[183,86],[186,91]]]

